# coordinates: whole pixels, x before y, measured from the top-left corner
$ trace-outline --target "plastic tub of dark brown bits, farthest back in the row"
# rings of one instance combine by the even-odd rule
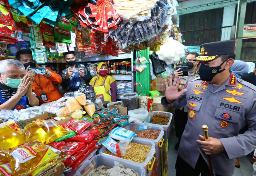
[[[165,122],[165,120],[161,119],[161,116],[166,118],[167,120],[169,118],[169,121],[168,121],[167,125],[153,124],[151,121],[151,118],[154,118],[154,116],[156,118],[158,118],[159,123]],[[172,119],[172,113],[167,113],[167,112],[163,112],[163,111],[153,111],[150,114],[149,118],[146,121],[144,121],[144,123],[146,123],[147,125],[157,125],[157,126],[163,127],[163,131],[164,131],[163,139],[164,139],[164,142],[166,142],[169,137],[170,130],[171,130],[171,127],[170,127],[171,119]],[[157,121],[157,119],[155,119],[155,120]],[[156,123],[155,120],[153,121],[154,123]],[[163,124],[166,124],[166,123],[163,123]]]

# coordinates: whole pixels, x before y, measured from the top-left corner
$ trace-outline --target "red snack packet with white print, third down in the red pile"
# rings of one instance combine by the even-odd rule
[[[70,156],[74,155],[77,151],[81,150],[85,146],[85,143],[83,142],[68,142],[65,145],[62,145],[61,147],[58,147],[57,149],[68,153]],[[66,163],[71,157],[67,158],[63,162]]]

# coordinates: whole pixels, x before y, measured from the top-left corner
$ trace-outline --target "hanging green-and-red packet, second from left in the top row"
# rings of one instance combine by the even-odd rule
[[[14,30],[30,33],[27,24],[27,17],[25,15],[18,14],[18,11],[11,6],[9,7],[9,10],[13,18],[12,22]]]

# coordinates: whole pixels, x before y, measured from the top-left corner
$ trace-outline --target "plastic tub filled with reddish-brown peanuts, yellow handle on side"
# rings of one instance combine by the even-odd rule
[[[131,123],[129,125],[124,126],[125,129],[131,130],[137,134],[137,137],[134,138],[142,138],[147,139],[148,141],[152,141],[155,143],[155,151],[156,151],[156,160],[159,157],[161,152],[161,147],[163,145],[163,127],[159,125],[153,124],[142,124],[142,123]]]

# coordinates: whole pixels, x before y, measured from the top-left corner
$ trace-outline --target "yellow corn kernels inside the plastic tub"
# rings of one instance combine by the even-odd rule
[[[142,162],[145,162],[145,160],[147,159],[147,156],[150,150],[151,150],[151,145],[142,145],[142,144],[131,142],[130,148],[126,150],[125,156],[121,158],[142,163]],[[114,153],[111,153],[109,150],[105,151],[104,153],[118,157]]]

